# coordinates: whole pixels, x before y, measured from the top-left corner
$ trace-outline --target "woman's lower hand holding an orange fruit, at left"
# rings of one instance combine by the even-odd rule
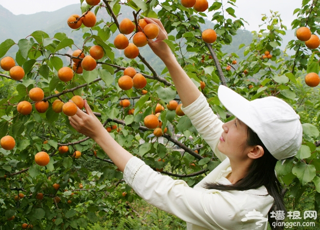
[[[78,108],[76,114],[69,117],[70,125],[78,132],[94,140],[105,128],[93,114],[87,100],[85,100],[85,109],[87,113]]]

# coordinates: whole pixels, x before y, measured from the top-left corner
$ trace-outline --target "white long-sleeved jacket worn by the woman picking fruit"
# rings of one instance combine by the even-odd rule
[[[274,200],[264,186],[246,191],[203,187],[205,182],[231,184],[226,178],[231,172],[230,161],[217,149],[223,123],[203,94],[183,111],[222,163],[191,188],[185,181],[158,174],[142,160],[133,157],[125,167],[125,181],[148,203],[185,220],[189,230],[267,229],[268,212]]]

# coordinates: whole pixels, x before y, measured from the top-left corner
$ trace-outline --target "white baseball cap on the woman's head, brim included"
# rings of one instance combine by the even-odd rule
[[[285,101],[266,97],[248,101],[226,86],[218,98],[239,120],[249,126],[277,160],[293,157],[302,144],[299,115]]]

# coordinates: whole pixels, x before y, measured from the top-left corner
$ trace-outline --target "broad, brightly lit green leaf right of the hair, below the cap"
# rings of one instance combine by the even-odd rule
[[[292,168],[292,173],[299,179],[299,181],[304,185],[315,177],[315,167],[314,165],[306,164],[305,162],[299,161]]]

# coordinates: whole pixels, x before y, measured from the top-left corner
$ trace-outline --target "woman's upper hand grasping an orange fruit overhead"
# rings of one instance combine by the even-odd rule
[[[153,23],[159,26],[159,34],[155,41],[149,40],[149,46],[152,51],[160,57],[161,60],[165,61],[168,58],[168,55],[173,55],[169,46],[163,42],[163,40],[168,39],[168,33],[162,25],[161,21],[157,18],[148,18],[145,17],[145,20],[148,24]]]

